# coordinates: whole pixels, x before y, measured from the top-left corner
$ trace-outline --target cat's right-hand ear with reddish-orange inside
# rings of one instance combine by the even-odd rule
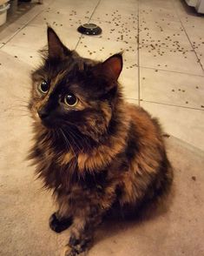
[[[111,80],[116,81],[122,71],[122,53],[117,53],[104,61],[102,70]]]

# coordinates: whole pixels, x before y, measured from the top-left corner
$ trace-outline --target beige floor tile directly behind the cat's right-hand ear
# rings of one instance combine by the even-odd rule
[[[119,77],[119,81],[123,85],[126,97],[138,98],[138,68],[135,44],[126,44],[122,41],[116,42],[97,37],[83,37],[80,44],[78,44],[76,51],[82,57],[89,57],[99,61],[104,61],[111,55],[124,51],[124,64],[122,74]]]

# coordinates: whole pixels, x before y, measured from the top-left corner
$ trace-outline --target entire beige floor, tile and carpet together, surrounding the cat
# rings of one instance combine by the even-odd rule
[[[167,209],[148,221],[102,227],[89,255],[204,255],[204,16],[184,0],[43,2],[0,32],[0,255],[59,256],[69,238],[69,230],[50,232],[51,196],[24,160],[31,144],[24,105],[47,23],[83,57],[102,60],[124,51],[125,97],[160,118],[172,135]],[[81,37],[76,28],[86,22],[99,24],[102,35]]]

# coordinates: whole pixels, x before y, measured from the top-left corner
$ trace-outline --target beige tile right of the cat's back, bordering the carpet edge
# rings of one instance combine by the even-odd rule
[[[159,118],[165,132],[204,151],[204,111],[144,101],[141,106]]]

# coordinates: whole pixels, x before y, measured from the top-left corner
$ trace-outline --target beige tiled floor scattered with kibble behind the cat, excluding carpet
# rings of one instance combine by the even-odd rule
[[[204,150],[204,17],[183,2],[44,0],[0,33],[0,52],[35,67],[46,24],[83,57],[124,51],[126,98],[160,118],[169,134]],[[99,24],[102,35],[81,37],[76,28],[86,22]]]

